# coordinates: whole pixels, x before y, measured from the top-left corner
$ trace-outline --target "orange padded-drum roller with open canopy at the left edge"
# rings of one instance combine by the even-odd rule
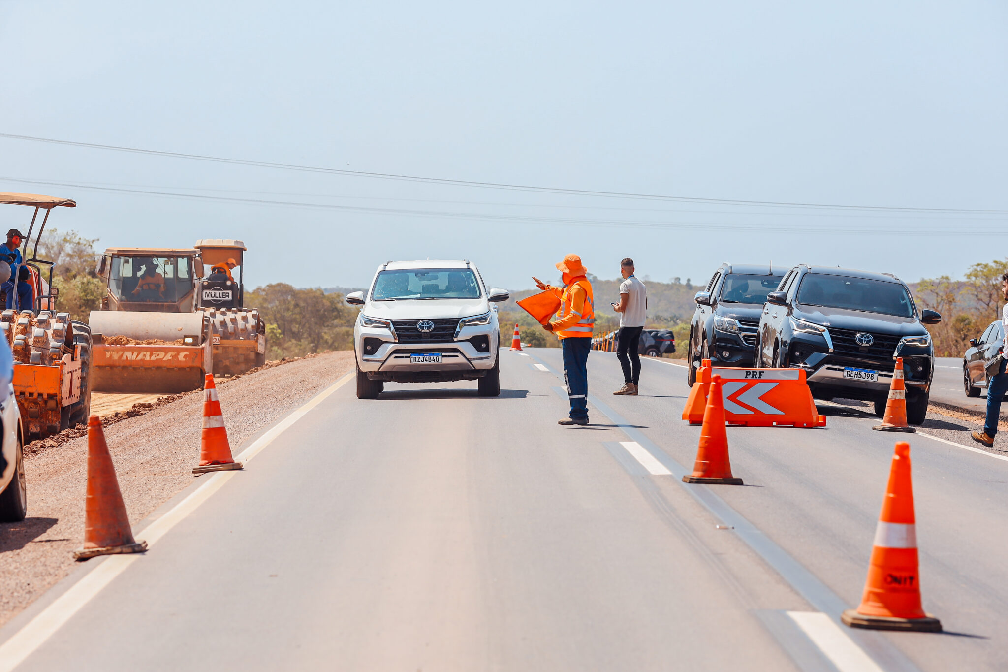
[[[0,193],[0,205],[34,209],[21,256],[32,289],[32,306],[0,312],[0,333],[14,355],[14,395],[25,426],[25,441],[44,438],[77,423],[87,423],[91,409],[92,338],[84,322],[56,312],[58,290],[52,286],[53,262],[38,258],[38,244],[53,208],[75,208],[70,198],[35,193]],[[45,216],[34,231],[39,211]],[[35,233],[28,258],[28,242]],[[47,267],[47,268],[46,268]],[[43,273],[43,270],[47,273]],[[47,278],[46,278],[47,276]],[[16,277],[11,280],[16,282]],[[0,288],[0,307],[8,287]],[[13,291],[13,289],[11,289]],[[21,306],[23,308],[23,306]]]

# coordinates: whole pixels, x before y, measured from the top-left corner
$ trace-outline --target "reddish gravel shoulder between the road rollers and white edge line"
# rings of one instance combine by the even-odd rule
[[[272,364],[272,363],[271,363]],[[268,366],[219,383],[232,452],[354,370],[353,352]],[[188,394],[105,427],[130,521],[142,520],[193,484],[203,395]],[[87,437],[25,456],[28,517],[0,523],[0,625],[74,567],[84,540]]]

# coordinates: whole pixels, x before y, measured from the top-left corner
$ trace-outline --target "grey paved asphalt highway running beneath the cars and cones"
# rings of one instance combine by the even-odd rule
[[[824,429],[729,428],[746,486],[686,486],[684,369],[647,360],[643,395],[614,397],[593,353],[592,424],[566,428],[559,351],[526,352],[502,353],[495,399],[344,385],[202,479],[216,494],[145,555],[58,585],[62,627],[43,599],[0,641],[41,615],[18,670],[1008,669],[1008,459],[824,406]],[[897,438],[943,634],[837,625]]]

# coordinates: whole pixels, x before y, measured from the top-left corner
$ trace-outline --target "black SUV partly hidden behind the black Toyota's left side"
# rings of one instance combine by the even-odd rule
[[[786,270],[722,264],[707,287],[697,292],[686,357],[692,365],[687,373],[689,385],[697,382],[702,360],[711,360],[715,366],[749,366],[763,303]]]

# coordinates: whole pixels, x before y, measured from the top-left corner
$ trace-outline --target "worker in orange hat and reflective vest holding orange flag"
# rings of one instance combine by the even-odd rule
[[[536,277],[539,289],[551,291],[560,299],[557,319],[542,325],[560,340],[563,351],[563,380],[571,398],[571,416],[558,420],[561,425],[588,424],[588,354],[592,352],[592,331],[595,328],[595,298],[581,257],[569,254],[556,264],[563,274],[563,286],[547,285]]]

